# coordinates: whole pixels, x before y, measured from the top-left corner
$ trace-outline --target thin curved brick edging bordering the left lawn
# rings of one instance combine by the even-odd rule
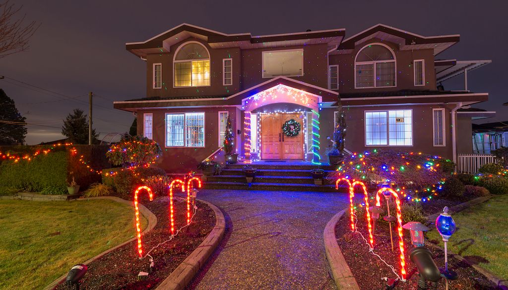
[[[119,203],[123,203],[123,204],[127,204],[127,205],[130,205],[132,207],[134,207],[134,203],[130,202],[130,201],[127,201],[127,200],[123,200],[123,199],[120,199],[120,198],[116,198],[116,197],[96,197],[96,198],[83,198],[83,199],[75,199],[75,200],[72,200],[72,201],[86,201],[86,200],[112,200],[112,201],[115,201],[115,202],[119,202]],[[141,234],[146,234],[147,232],[153,230],[153,228],[155,228],[155,225],[157,224],[157,217],[155,216],[155,214],[153,214],[149,209],[147,209],[144,205],[142,204],[139,204],[139,211],[141,212],[141,214],[148,220],[148,225],[146,226],[146,229],[141,233]],[[119,245],[116,245],[112,248],[109,248],[107,250],[105,250],[104,252],[92,257],[91,259],[87,260],[86,262],[84,262],[83,264],[85,265],[88,265],[90,263],[92,263],[93,261],[99,259],[100,257],[104,256],[105,254],[125,245],[125,244],[128,244],[134,240],[136,240],[137,237],[134,237],[128,241],[125,241]],[[56,286],[61,282],[63,281],[65,278],[67,277],[67,273],[60,276],[59,278],[57,278],[56,280],[54,280],[51,284],[49,284],[48,286],[46,286],[44,288],[44,290],[53,290],[56,288]]]

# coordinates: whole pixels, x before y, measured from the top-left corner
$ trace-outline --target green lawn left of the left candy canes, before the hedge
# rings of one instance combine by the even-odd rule
[[[42,289],[136,234],[134,209],[110,200],[4,200],[0,224],[0,289]]]

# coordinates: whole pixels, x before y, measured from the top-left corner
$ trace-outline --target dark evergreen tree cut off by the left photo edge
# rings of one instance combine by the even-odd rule
[[[14,100],[0,89],[0,145],[14,145],[25,142],[26,118],[16,109]]]

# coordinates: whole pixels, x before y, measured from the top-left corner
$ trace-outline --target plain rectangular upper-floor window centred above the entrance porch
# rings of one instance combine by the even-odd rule
[[[303,49],[263,51],[263,78],[303,76]]]

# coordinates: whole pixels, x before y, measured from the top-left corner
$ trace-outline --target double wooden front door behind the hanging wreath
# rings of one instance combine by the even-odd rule
[[[300,123],[300,133],[288,137],[282,132],[282,126],[291,119]],[[262,159],[303,159],[302,113],[262,114],[261,115],[261,158]]]

